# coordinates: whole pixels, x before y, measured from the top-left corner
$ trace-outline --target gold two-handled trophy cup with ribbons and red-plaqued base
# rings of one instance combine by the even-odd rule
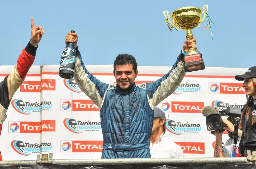
[[[170,15],[168,15],[169,14],[168,10],[165,10],[163,13],[166,18],[165,21],[167,25],[169,23],[177,31],[178,29],[186,30],[187,39],[193,39],[194,36],[192,34],[191,29],[197,27],[197,25],[198,25],[198,28],[200,28],[200,24],[203,22],[203,20],[207,15],[208,5],[203,6],[203,9],[204,10],[202,11],[202,9],[198,7],[183,7],[183,8],[174,10]],[[202,13],[204,15],[203,15],[203,19],[201,20]],[[173,19],[173,23],[170,21],[170,18]],[[170,25],[168,26],[171,30]],[[205,64],[202,59],[202,54],[194,48],[189,48],[189,50],[184,56],[184,63],[185,63],[185,66],[184,66],[185,72],[192,72],[196,70],[205,69]]]

